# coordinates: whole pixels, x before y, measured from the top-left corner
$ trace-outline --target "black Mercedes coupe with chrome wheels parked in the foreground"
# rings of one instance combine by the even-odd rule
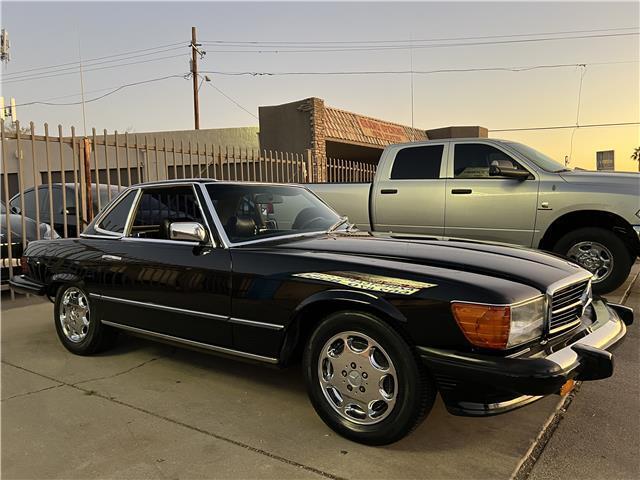
[[[55,298],[70,352],[124,331],[279,366],[302,357],[317,413],[367,444],[408,434],[438,391],[451,413],[483,416],[608,377],[633,321],[566,260],[353,231],[293,185],[137,185],[80,238],[32,242],[25,258],[11,285]]]

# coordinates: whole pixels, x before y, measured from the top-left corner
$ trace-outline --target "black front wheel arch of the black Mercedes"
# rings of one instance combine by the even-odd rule
[[[372,293],[324,290],[304,299],[295,308],[283,341],[280,363],[287,365],[298,360],[315,327],[329,314],[341,310],[371,313],[396,326],[407,322],[406,317],[394,305]]]

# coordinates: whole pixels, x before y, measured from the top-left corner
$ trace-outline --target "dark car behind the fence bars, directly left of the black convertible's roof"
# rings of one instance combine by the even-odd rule
[[[109,203],[109,188],[111,189],[111,198],[118,195],[118,187],[107,185],[100,185],[100,188],[97,188],[95,183],[91,184],[91,193],[93,200],[93,213],[97,214],[100,211],[100,208],[103,208],[107,203]],[[64,191],[65,191],[65,200],[66,200],[66,212],[63,208],[63,199],[62,199],[62,190],[63,185],[61,183],[53,183],[51,184],[51,198],[53,205],[53,228],[60,236],[64,236],[64,220],[65,217],[67,219],[67,236],[68,237],[77,237],[78,233],[80,233],[84,227],[87,225],[87,221],[84,218],[81,218],[81,210],[78,210],[76,205],[76,184],[74,183],[65,183]],[[100,191],[100,201],[98,202],[98,197],[96,195],[96,191]],[[80,185],[77,186],[78,191],[78,199],[80,199]],[[38,205],[39,205],[39,216],[40,222],[51,224],[51,209],[49,208],[49,185],[39,185],[38,186]],[[20,213],[20,194],[17,193],[11,200],[9,200],[9,206],[14,209],[14,211]],[[36,218],[36,192],[33,187],[28,188],[24,191],[24,213],[27,217]],[[77,215],[76,215],[77,213]],[[77,222],[80,220],[82,224],[80,228],[78,228]]]

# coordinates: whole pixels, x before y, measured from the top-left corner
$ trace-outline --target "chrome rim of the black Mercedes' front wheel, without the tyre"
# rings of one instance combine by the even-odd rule
[[[396,369],[387,352],[361,332],[334,335],[320,351],[318,380],[329,405],[343,418],[373,425],[392,411]]]

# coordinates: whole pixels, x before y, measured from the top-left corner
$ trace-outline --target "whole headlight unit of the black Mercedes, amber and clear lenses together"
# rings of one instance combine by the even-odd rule
[[[546,301],[541,295],[513,305],[453,302],[451,310],[462,333],[473,345],[505,349],[540,338]]]

